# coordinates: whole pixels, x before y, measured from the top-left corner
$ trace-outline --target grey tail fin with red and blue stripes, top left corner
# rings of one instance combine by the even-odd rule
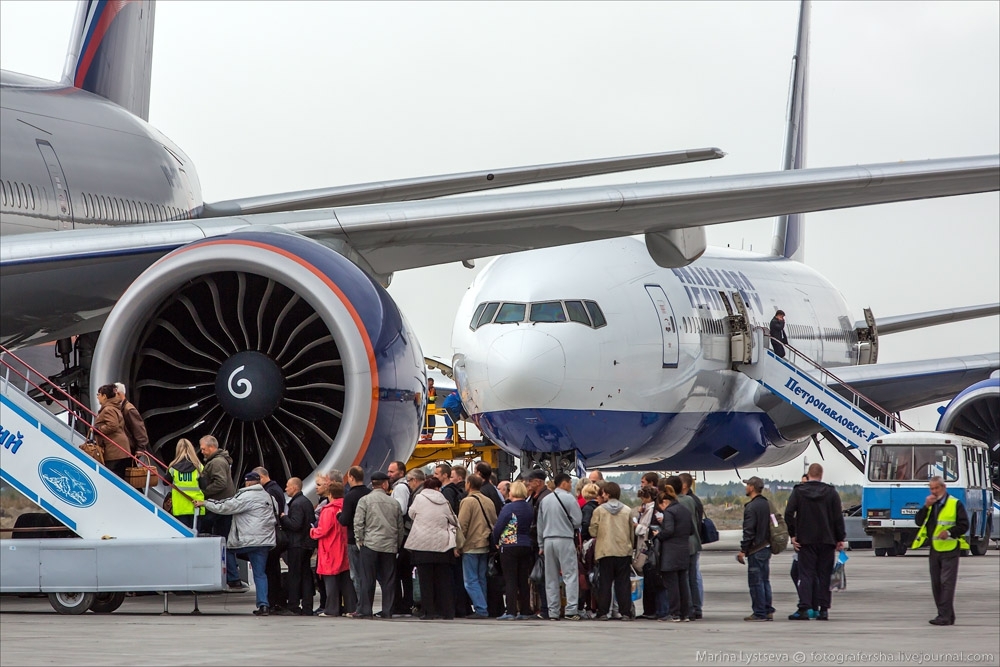
[[[150,0],[81,0],[63,82],[149,120],[154,15]]]

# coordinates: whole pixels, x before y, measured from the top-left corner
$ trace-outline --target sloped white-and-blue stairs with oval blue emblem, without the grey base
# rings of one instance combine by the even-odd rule
[[[170,486],[160,472],[167,469],[162,461],[129,454],[132,466],[149,469],[145,488],[136,489],[80,449],[86,438],[78,425],[107,447],[118,447],[89,429],[94,419],[89,408],[0,346],[0,479],[85,540],[194,537],[161,507]]]

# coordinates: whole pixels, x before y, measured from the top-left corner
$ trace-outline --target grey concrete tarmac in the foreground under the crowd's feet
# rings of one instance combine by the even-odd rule
[[[727,536],[728,537],[728,536]],[[251,615],[253,593],[128,598],[62,616],[44,598],[0,599],[0,665],[997,665],[1000,554],[959,568],[957,624],[935,627],[927,552],[849,552],[828,622],[788,621],[791,552],[774,556],[772,623],[746,623],[746,568],[731,540],[702,554],[704,620],[420,621]],[[713,545],[715,546],[715,545]],[[375,609],[379,609],[376,601]]]

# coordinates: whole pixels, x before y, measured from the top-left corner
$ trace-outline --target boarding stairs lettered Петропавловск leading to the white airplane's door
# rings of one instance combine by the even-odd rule
[[[898,429],[913,429],[788,343],[786,356],[771,349],[767,329],[749,324],[738,294],[730,314],[733,367],[823,427],[827,439],[863,469],[869,443]],[[859,453],[859,461],[853,454]]]

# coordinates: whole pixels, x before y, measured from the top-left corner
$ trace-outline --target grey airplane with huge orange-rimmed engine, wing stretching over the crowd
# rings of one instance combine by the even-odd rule
[[[263,464],[307,492],[417,440],[423,355],[385,291],[396,271],[635,233],[683,265],[706,224],[998,188],[985,156],[482,194],[723,156],[704,148],[205,202],[146,120],[154,15],[83,2],[61,81],[0,77],[0,343],[56,341],[53,382],[85,396],[125,381],[157,452],[214,433],[234,474]]]

